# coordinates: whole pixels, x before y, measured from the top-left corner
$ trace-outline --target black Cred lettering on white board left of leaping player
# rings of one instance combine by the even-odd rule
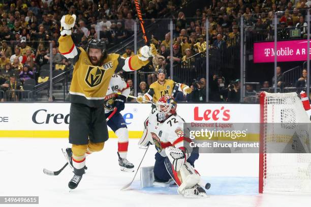
[[[69,124],[69,114],[49,114],[47,110],[39,109],[33,114],[33,122],[36,124],[49,124],[50,122]]]

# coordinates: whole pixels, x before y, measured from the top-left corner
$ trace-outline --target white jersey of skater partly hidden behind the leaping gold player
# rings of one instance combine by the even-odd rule
[[[118,96],[118,93],[128,97],[130,95],[130,87],[119,75],[113,74],[105,96],[105,114],[113,111],[114,100]]]

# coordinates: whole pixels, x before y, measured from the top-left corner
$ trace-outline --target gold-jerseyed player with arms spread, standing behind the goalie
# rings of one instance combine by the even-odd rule
[[[178,87],[178,91],[182,91],[184,95],[189,94],[192,92],[192,89],[185,85],[185,84],[180,84],[180,83],[175,83],[173,80],[165,79],[166,73],[165,71],[161,68],[158,71],[158,81],[152,83],[149,87],[149,90],[147,93],[144,95],[139,95],[137,97],[137,102],[142,103],[145,100],[152,100],[154,103],[157,102],[161,97],[165,95],[170,95],[173,94],[173,90],[175,86]],[[154,113],[155,111],[155,105],[151,105],[151,113],[149,114],[149,117],[144,121],[144,131],[142,135],[142,139],[140,142],[143,142],[144,139],[147,139],[148,130],[147,130],[147,123],[148,119]],[[138,143],[140,145],[140,142]]]

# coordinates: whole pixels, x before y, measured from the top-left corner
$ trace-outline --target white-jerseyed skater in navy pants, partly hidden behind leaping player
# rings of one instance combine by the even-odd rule
[[[120,92],[120,94],[118,94]],[[118,158],[119,165],[122,171],[134,171],[134,165],[127,159],[129,146],[129,131],[127,124],[120,114],[125,108],[125,102],[130,95],[130,86],[121,79],[117,74],[114,74],[110,79],[107,94],[105,96],[105,115],[109,115],[116,108],[116,113],[107,122],[108,126],[114,131],[118,137]]]

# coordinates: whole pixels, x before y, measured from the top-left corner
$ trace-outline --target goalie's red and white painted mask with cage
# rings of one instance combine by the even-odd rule
[[[164,121],[176,113],[177,103],[173,96],[165,95],[157,102],[158,119]]]

